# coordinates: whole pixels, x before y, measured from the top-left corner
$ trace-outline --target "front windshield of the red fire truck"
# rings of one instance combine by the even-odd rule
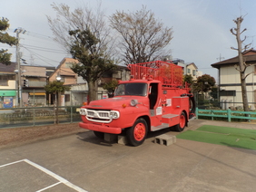
[[[119,84],[114,91],[114,96],[119,95],[147,95],[147,84],[146,83],[123,83]]]

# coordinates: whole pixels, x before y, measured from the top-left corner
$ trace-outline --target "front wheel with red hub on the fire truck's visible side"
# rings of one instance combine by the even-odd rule
[[[147,132],[147,122],[143,118],[136,120],[133,124],[133,127],[129,128],[126,132],[126,137],[129,144],[132,146],[142,145],[146,139]]]

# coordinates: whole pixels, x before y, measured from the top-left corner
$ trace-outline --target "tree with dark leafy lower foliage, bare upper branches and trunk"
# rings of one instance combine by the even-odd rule
[[[64,46],[79,63],[71,68],[88,83],[89,101],[97,100],[98,81],[113,70],[113,38],[104,21],[101,5],[96,12],[80,6],[72,12],[68,5],[52,5],[56,18],[47,16],[54,40]]]

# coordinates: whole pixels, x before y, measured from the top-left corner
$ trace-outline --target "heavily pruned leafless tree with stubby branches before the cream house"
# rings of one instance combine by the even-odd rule
[[[246,74],[246,69],[249,67],[249,64],[243,61],[242,52],[246,51],[251,44],[245,45],[243,48],[241,47],[242,43],[245,41],[246,36],[243,40],[241,40],[241,34],[246,31],[246,28],[241,31],[241,22],[243,21],[243,17],[240,16],[233,20],[236,24],[236,28],[231,28],[231,34],[236,36],[236,41],[238,44],[238,48],[231,47],[233,50],[238,51],[239,65],[235,65],[235,69],[240,72],[241,78],[241,97],[243,102],[243,110],[249,111],[248,98],[247,98],[247,89],[246,89],[246,78],[251,73]]]

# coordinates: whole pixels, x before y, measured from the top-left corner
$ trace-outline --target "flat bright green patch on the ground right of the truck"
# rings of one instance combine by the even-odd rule
[[[178,139],[256,150],[256,130],[203,125],[197,130],[187,130],[176,137]]]

